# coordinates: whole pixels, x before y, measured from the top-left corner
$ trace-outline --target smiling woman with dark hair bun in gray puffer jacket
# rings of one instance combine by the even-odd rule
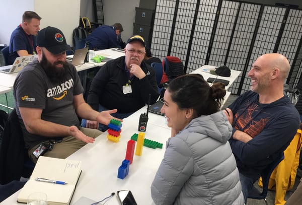
[[[225,89],[199,74],[170,82],[161,112],[171,138],[151,186],[156,204],[244,204],[228,140],[232,126],[219,110]]]

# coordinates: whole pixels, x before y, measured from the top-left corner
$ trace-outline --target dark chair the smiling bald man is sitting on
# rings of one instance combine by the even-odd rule
[[[266,169],[261,173],[262,178],[262,192],[260,192],[255,186],[250,190],[248,198],[253,199],[264,199],[265,204],[267,205],[266,195],[268,191],[269,177],[276,168],[276,166],[284,159],[284,153],[280,152],[278,157],[273,161]]]

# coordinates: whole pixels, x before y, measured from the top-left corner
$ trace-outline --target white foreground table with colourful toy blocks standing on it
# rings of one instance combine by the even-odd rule
[[[133,157],[129,174],[124,179],[117,178],[118,168],[125,159],[127,142],[134,133],[138,133],[138,120],[146,106],[125,118],[121,127],[118,143],[107,140],[104,132],[93,144],[88,144],[73,153],[68,159],[82,161],[82,174],[73,194],[71,205],[85,196],[99,201],[117,190],[130,189],[138,204],[154,204],[150,185],[164,157],[166,141],[170,137],[170,128],[161,115],[149,113],[145,139],[163,143],[163,149],[143,147],[142,155]],[[16,201],[20,191],[4,200],[1,204],[21,204]],[[116,194],[106,205],[119,204]]]

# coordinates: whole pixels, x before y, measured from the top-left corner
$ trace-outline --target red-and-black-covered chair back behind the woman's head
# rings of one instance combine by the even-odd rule
[[[175,56],[166,56],[163,60],[163,78],[161,83],[167,83],[173,79],[184,75],[184,64],[181,59]]]

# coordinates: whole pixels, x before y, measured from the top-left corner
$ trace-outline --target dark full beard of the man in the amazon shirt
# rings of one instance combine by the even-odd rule
[[[56,63],[62,63],[63,67],[56,67]],[[55,61],[51,64],[45,57],[44,53],[42,54],[42,59],[40,65],[45,71],[46,75],[53,83],[62,82],[68,74],[68,63],[66,61]]]

